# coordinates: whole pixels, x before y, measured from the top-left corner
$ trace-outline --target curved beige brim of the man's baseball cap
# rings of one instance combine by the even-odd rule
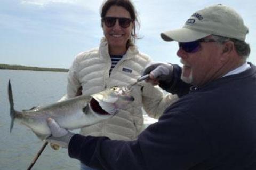
[[[191,42],[197,39],[209,36],[209,33],[203,33],[202,31],[195,31],[188,28],[174,29],[161,33],[161,38],[164,41],[177,41],[177,42]]]

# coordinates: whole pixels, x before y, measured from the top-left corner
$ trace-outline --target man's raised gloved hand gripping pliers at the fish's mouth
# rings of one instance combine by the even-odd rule
[[[149,74],[149,82],[158,85],[159,81],[169,81],[172,78],[173,66],[169,63],[151,62],[142,71],[142,76]]]

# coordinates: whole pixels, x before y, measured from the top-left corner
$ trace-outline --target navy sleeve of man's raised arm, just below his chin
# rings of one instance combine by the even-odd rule
[[[159,82],[159,87],[172,94],[177,94],[179,97],[186,95],[190,90],[191,84],[187,84],[180,79],[181,72],[181,67],[173,64],[172,78],[169,82]]]

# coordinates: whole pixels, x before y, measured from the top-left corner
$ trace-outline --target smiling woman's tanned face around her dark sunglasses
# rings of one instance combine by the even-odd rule
[[[111,6],[107,11],[105,17],[122,17],[131,19],[130,13],[121,6]],[[116,20],[113,27],[107,27],[104,22],[102,22],[102,28],[104,35],[109,43],[109,51],[124,51],[126,52],[126,43],[131,36],[132,29],[134,27],[134,22],[127,28],[123,28],[119,25],[119,19]]]

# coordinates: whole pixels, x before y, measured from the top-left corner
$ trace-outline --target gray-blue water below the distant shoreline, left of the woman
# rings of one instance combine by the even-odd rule
[[[31,130],[15,124],[10,133],[11,118],[7,84],[11,79],[16,110],[50,104],[66,92],[67,73],[0,70],[0,169],[27,169],[42,147]],[[68,157],[67,149],[58,151],[47,146],[33,167],[36,169],[79,169],[79,161]]]

